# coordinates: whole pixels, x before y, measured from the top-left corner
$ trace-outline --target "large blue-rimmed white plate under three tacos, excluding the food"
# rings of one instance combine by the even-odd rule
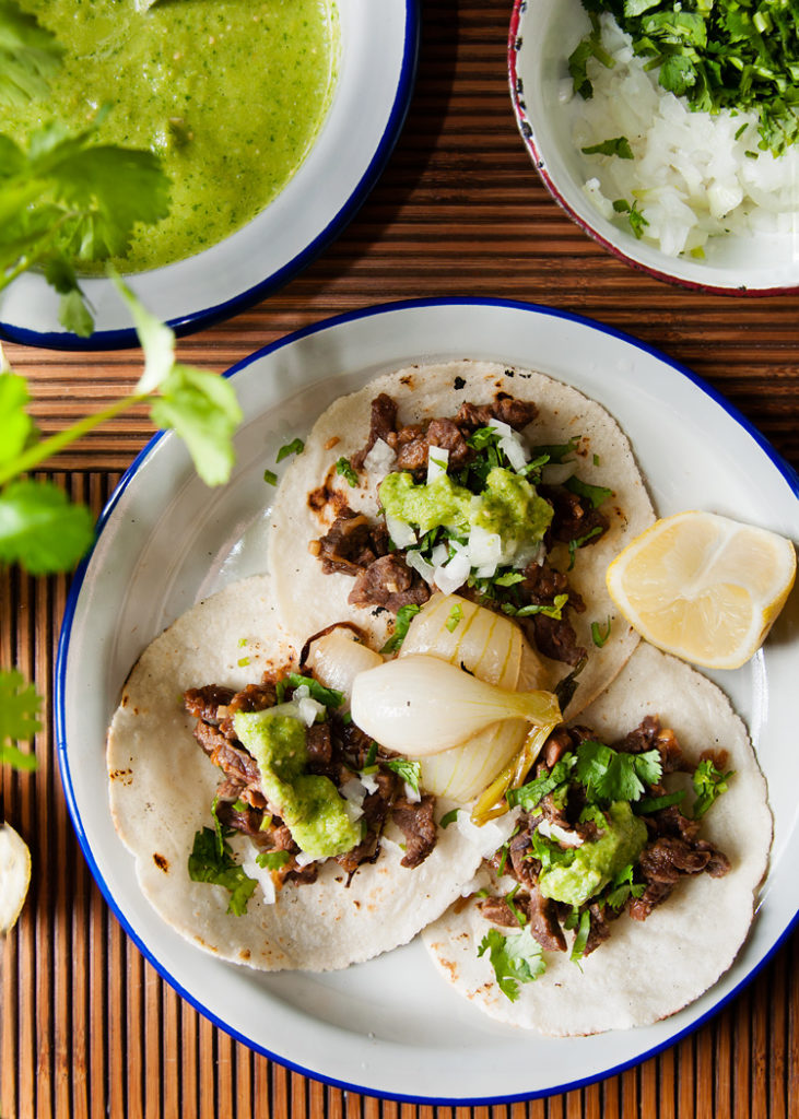
[[[774,844],[735,963],[673,1017],[566,1040],[514,1031],[444,985],[419,938],[340,972],[264,975],[188,944],[140,893],[111,820],[104,756],[131,666],[198,599],[264,570],[274,493],[264,470],[275,468],[282,445],[379,373],[467,357],[538,368],[604,404],[632,440],[660,515],[703,508],[799,538],[796,472],[723,397],[658,351],[530,304],[394,303],[317,323],[231,370],[246,419],[224,489],[203,486],[177,439],[151,440],[105,509],[74,581],[56,680],[58,759],[83,852],[113,912],[164,979],[235,1038],[290,1068],[359,1092],[442,1104],[564,1091],[671,1045],[735,997],[799,911],[797,593],[745,667],[712,674],[750,727],[769,780]]]

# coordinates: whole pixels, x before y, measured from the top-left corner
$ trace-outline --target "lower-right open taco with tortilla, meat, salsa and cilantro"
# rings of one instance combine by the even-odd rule
[[[592,1034],[674,1014],[730,968],[772,825],[745,726],[711,680],[639,646],[510,799],[515,834],[423,934],[472,1005]]]

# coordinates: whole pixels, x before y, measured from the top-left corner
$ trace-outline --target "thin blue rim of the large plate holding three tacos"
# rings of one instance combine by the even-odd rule
[[[642,350],[646,354],[651,355],[659,361],[665,363],[670,366],[676,373],[680,374],[683,377],[690,380],[701,392],[706,396],[709,396],[716,404],[718,404],[727,415],[734,420],[758,444],[758,446],[763,451],[769,461],[777,468],[777,470],[782,474],[782,477],[788,482],[789,487],[799,499],[799,473],[791,467],[791,464],[769,443],[769,441],[758,431],[753,424],[741,413],[735,405],[731,404],[725,397],[718,393],[712,385],[705,382],[702,377],[697,376],[689,368],[682,365],[682,363],[667,357],[661,350],[654,346],[643,342],[624,331],[617,330],[613,327],[605,326],[602,322],[598,322],[593,319],[589,319],[585,316],[574,314],[571,311],[561,311],[555,308],[543,307],[537,303],[525,303],[520,300],[506,300],[506,299],[477,299],[477,298],[439,298],[439,299],[417,299],[417,300],[406,300],[396,303],[383,303],[375,307],[363,308],[357,311],[348,311],[344,314],[333,316],[328,319],[323,319],[320,322],[312,323],[308,327],[303,327],[300,330],[286,335],[284,338],[278,341],[271,342],[267,346],[262,347],[254,354],[236,363],[224,374],[225,377],[233,377],[242,369],[246,368],[253,361],[257,361],[270,354],[275,352],[275,350],[283,349],[286,346],[292,345],[301,338],[309,335],[321,333],[322,331],[329,330],[335,327],[342,326],[347,322],[351,322],[358,319],[366,319],[378,314],[391,314],[393,311],[402,310],[413,310],[422,308],[436,308],[436,307],[496,307],[496,308],[507,308],[513,310],[528,311],[532,314],[540,314],[556,319],[565,319],[567,321],[577,323],[581,327],[586,327],[591,330],[598,330],[601,333],[609,335],[612,338],[617,338],[636,349]],[[91,845],[88,843],[83,822],[81,820],[81,814],[75,800],[74,789],[72,784],[72,775],[69,771],[69,761],[67,756],[67,742],[66,742],[66,711],[65,711],[65,683],[66,683],[66,665],[69,655],[69,638],[72,633],[72,626],[75,617],[75,610],[77,608],[77,601],[81,595],[81,590],[86,575],[88,563],[94,553],[94,548],[97,546],[100,536],[103,529],[114,511],[114,508],[120,500],[122,493],[128,488],[130,482],[133,480],[139,471],[139,468],[143,460],[149,455],[150,451],[156,446],[156,444],[167,434],[164,431],[158,432],[149,441],[147,446],[144,446],[137,458],[133,460],[131,466],[128,468],[125,473],[120,479],[116,489],[109,499],[105,508],[103,509],[98,520],[97,520],[97,532],[95,536],[95,543],[92,546],[92,551],[84,557],[81,565],[75,572],[69,594],[67,596],[66,609],[64,613],[64,621],[62,623],[60,634],[58,639],[58,652],[56,657],[56,671],[55,671],[55,730],[56,730],[56,749],[58,758],[58,768],[62,778],[62,784],[64,788],[64,794],[67,802],[67,808],[69,816],[72,818],[73,827],[77,835],[81,849],[83,852],[84,858],[86,859],[88,867],[92,872],[94,881],[96,882],[103,897],[109,904],[112,913],[120,922],[126,934],[137,946],[142,956],[148,960],[150,965],[158,971],[162,979],[164,979],[173,990],[180,995],[181,998],[204,1017],[208,1018],[215,1026],[218,1026],[226,1034],[228,1034],[234,1041],[241,1042],[241,1044],[246,1045],[248,1049],[256,1053],[269,1057],[271,1061],[275,1061],[278,1064],[290,1069],[292,1072],[298,1072],[304,1076],[309,1076],[321,1083],[329,1084],[332,1088],[338,1088],[344,1091],[358,1092],[364,1096],[370,1096],[376,1099],[384,1100],[395,1100],[402,1103],[421,1103],[431,1107],[485,1107],[489,1104],[504,1104],[504,1103],[517,1103],[525,1100],[543,1099],[545,1097],[560,1094],[562,1092],[571,1092],[580,1088],[586,1088],[590,1084],[595,1084],[609,1076],[618,1075],[628,1069],[636,1068],[643,1061],[648,1061],[650,1057],[656,1056],[658,1053],[662,1053],[668,1049],[671,1049],[679,1041],[688,1037],[701,1026],[704,1026],[707,1022],[714,1018],[724,1007],[726,1007],[733,999],[737,998],[741,991],[746,987],[752,980],[760,974],[760,971],[771,961],[779,949],[784,944],[788,938],[791,935],[796,928],[799,928],[799,912],[793,915],[793,918],[788,922],[782,933],[777,938],[772,947],[764,953],[764,956],[752,967],[752,969],[743,977],[743,979],[727,994],[724,998],[715,1003],[705,1014],[703,1014],[695,1022],[689,1023],[684,1029],[674,1034],[671,1037],[654,1045],[651,1049],[646,1050],[627,1061],[622,1061],[619,1064],[614,1064],[604,1071],[592,1074],[585,1078],[576,1078],[575,1080],[567,1081],[563,1084],[554,1085],[553,1088],[547,1088],[540,1091],[530,1092],[519,1092],[510,1096],[497,1094],[497,1096],[486,1096],[486,1097],[474,1097],[470,1099],[463,1099],[460,1097],[431,1097],[431,1096],[413,1096],[412,1093],[396,1093],[396,1092],[382,1092],[379,1090],[364,1087],[357,1083],[352,1083],[346,1080],[337,1080],[336,1078],[321,1075],[313,1071],[313,1069],[306,1065],[298,1064],[288,1057],[281,1056],[278,1053],[273,1053],[271,1050],[265,1049],[263,1045],[256,1044],[245,1034],[237,1029],[231,1027],[224,1019],[219,1018],[214,1010],[201,1003],[198,998],[191,995],[185,987],[182,987],[161,965],[161,962],[152,955],[147,944],[141,940],[141,938],[133,931],[129,924],[126,918],[122,914],[118,908],[101,872],[94,859]]]

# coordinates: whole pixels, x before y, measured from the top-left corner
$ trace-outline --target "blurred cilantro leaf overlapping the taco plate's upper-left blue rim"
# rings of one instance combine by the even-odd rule
[[[242,421],[233,386],[224,377],[175,365],[150,410],[159,427],[184,440],[197,473],[208,486],[227,481],[234,462],[232,436]]]

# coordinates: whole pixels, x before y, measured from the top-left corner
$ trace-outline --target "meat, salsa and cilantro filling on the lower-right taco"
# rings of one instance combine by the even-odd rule
[[[647,715],[612,746],[586,727],[558,727],[540,759],[529,780],[507,794],[518,820],[490,861],[495,892],[478,902],[488,921],[526,930],[535,941],[537,967],[517,977],[521,981],[543,972],[543,951],[571,951],[581,960],[626,911],[645,921],[682,878],[730,871],[727,856],[701,838],[702,817],[733,777],[723,751],[690,763],[675,733]],[[673,774],[684,780],[669,790]],[[500,882],[507,888],[498,888]],[[496,970],[507,955],[504,938],[488,932],[483,952]],[[518,997],[515,981],[500,989]]]

